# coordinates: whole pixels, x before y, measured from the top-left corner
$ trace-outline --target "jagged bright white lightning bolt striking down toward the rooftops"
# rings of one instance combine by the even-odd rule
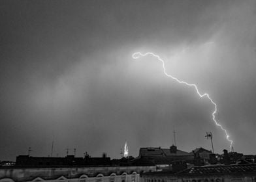
[[[214,105],[214,112],[212,112],[212,120],[214,121],[214,123],[216,123],[216,125],[218,127],[220,127],[224,132],[225,132],[225,135],[226,135],[226,139],[230,142],[230,146],[229,146],[229,149],[231,150],[232,148],[232,143],[233,141],[231,139],[229,139],[229,134],[227,133],[227,129],[223,128],[223,126],[218,123],[216,121],[216,112],[217,112],[217,104],[212,100],[212,98],[210,98],[209,94],[205,93],[205,94],[200,94],[199,92],[199,89],[197,88],[197,85],[195,85],[194,83],[187,83],[185,81],[180,81],[179,79],[177,79],[176,77],[172,76],[172,75],[169,75],[167,72],[166,72],[166,68],[165,68],[165,61],[163,59],[161,59],[159,57],[159,55],[155,55],[154,53],[140,53],[140,52],[136,52],[136,53],[133,53],[132,57],[133,59],[139,59],[140,57],[145,57],[145,56],[152,56],[152,57],[155,57],[157,58],[157,60],[161,61],[162,62],[162,65],[163,65],[163,71],[165,73],[165,75],[167,75],[167,77],[170,77],[172,79],[174,79],[175,81],[177,81],[178,83],[181,83],[181,84],[184,84],[184,85],[187,85],[187,86],[192,86],[193,88],[195,88],[195,90],[197,91],[197,94],[200,96],[200,98],[208,98],[210,100],[210,102],[212,103],[212,105]]]

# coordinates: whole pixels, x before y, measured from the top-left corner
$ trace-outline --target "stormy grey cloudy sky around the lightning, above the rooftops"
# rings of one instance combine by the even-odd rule
[[[0,160],[140,147],[256,154],[256,1],[0,1]]]

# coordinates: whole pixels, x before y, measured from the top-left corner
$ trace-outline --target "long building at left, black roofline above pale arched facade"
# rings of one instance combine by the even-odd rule
[[[114,162],[113,162],[114,163]],[[0,182],[140,182],[156,166],[146,159],[123,157],[31,157],[19,155],[16,166],[0,167]]]

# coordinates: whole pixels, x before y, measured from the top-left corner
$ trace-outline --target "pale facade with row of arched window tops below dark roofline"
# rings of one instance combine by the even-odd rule
[[[140,182],[155,166],[0,168],[0,182]]]

